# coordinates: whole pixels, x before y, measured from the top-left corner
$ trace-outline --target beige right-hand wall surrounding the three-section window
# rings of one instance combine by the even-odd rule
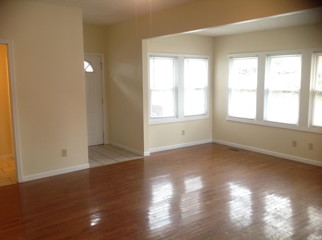
[[[306,25],[214,39],[213,138],[322,162],[322,136],[288,129],[226,121],[227,55],[322,47],[322,25]],[[309,80],[309,79],[307,79]],[[292,140],[297,147],[292,147]],[[314,150],[308,149],[313,143]]]

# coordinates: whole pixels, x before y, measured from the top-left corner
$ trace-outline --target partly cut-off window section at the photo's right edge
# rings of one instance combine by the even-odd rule
[[[322,128],[322,53],[313,54],[310,127]]]

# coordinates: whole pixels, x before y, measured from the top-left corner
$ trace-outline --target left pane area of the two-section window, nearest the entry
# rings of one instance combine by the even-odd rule
[[[176,58],[150,57],[150,117],[175,117]]]

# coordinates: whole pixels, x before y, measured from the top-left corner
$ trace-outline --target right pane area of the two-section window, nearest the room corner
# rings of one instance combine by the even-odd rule
[[[185,58],[184,69],[184,115],[205,114],[208,59]]]

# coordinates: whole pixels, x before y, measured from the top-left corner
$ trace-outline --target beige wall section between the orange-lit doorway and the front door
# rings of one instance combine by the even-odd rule
[[[1,1],[0,38],[13,41],[23,177],[86,166],[81,9]]]

